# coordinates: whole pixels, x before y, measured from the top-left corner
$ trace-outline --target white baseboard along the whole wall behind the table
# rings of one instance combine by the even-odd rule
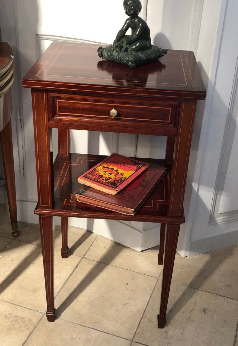
[[[4,188],[0,189],[3,191]],[[17,219],[21,222],[30,222],[33,224],[39,223],[39,218],[34,214],[36,202],[17,201]],[[114,240],[117,243],[128,246],[137,251],[159,245],[159,224],[155,224],[153,228],[138,230],[132,224],[114,221],[114,220],[99,220],[99,219],[80,219],[69,218],[68,225],[88,229],[89,231],[101,235],[103,237]],[[61,225],[61,218],[55,217],[55,225]],[[214,251],[223,247],[238,244],[238,230],[218,234],[209,238],[194,240],[190,242],[188,257],[200,255],[209,251]]]

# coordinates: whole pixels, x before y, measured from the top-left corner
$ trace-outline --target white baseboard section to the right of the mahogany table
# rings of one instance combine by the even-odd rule
[[[192,257],[235,244],[238,244],[238,230],[190,242],[187,256]]]

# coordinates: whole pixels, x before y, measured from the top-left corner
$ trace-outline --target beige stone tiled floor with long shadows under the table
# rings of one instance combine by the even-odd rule
[[[0,206],[0,346],[238,346],[238,247],[176,255],[167,324],[157,329],[158,248],[138,253],[69,227],[55,232],[56,320],[47,322],[39,226],[11,237]]]

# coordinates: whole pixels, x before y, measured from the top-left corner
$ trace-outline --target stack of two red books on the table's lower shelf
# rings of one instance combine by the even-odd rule
[[[78,202],[135,215],[166,168],[113,153],[78,177]]]

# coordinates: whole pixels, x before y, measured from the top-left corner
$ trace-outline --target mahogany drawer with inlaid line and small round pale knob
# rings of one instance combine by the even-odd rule
[[[163,101],[149,97],[100,97],[100,95],[50,94],[50,121],[71,124],[97,124],[107,127],[176,131],[180,101]],[[117,115],[111,116],[115,109]],[[118,130],[119,132],[119,130]]]

